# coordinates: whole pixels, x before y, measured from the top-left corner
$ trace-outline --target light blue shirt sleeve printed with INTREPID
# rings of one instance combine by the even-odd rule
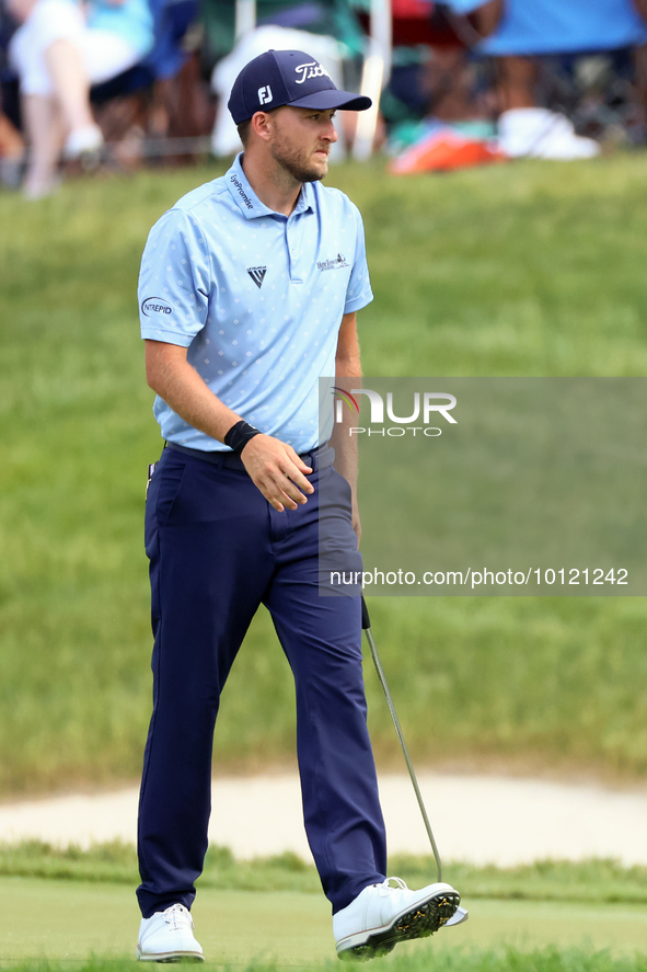
[[[141,258],[141,336],[188,347],[207,321],[210,289],[199,224],[182,209],[169,209],[151,229]]]

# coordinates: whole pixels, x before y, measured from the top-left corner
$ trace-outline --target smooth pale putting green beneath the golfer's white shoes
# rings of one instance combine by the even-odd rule
[[[647,952],[644,905],[464,902],[470,908],[464,925],[400,946],[370,968],[421,972],[458,970],[465,962],[467,969],[498,970],[509,962],[508,968],[520,972],[602,972],[634,968],[631,961],[643,961],[635,968],[646,968],[644,959],[634,958]],[[26,961],[35,968],[38,960],[79,968],[90,954],[102,960],[132,954],[138,926],[132,887],[0,878],[0,968]],[[196,937],[217,965],[294,965],[313,972],[342,968],[335,960],[330,904],[322,894],[203,888],[193,915]]]

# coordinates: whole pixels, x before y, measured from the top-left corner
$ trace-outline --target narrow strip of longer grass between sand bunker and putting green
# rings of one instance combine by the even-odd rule
[[[429,883],[436,868],[429,857],[396,855],[389,861],[389,872],[400,874],[412,888],[420,888]],[[130,887],[139,882],[135,848],[120,842],[99,844],[88,850],[74,846],[56,848],[38,841],[0,844],[0,877]],[[465,900],[647,904],[647,867],[623,867],[614,860],[543,860],[512,868],[453,861],[446,865],[443,878],[459,888]],[[271,888],[321,894],[314,867],[294,854],[243,861],[235,860],[227,847],[218,846],[207,851],[199,887],[232,891]]]

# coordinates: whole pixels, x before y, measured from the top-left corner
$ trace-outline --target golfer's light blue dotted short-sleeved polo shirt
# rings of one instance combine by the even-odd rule
[[[303,185],[289,217],[275,213],[241,160],[150,231],[139,274],[141,336],[188,347],[218,398],[307,453],[319,444],[319,378],[335,376],[342,317],[373,299],[361,216],[319,182]],[[159,396],[153,412],[170,442],[229,451]]]

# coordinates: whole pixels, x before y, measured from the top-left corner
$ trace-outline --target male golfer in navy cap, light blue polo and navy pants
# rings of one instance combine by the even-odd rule
[[[317,586],[324,481],[361,563],[353,456],[340,449],[342,476],[319,441],[317,384],[361,374],[355,316],[372,299],[359,213],[320,180],[335,111],[369,106],[301,50],[255,58],[229,101],[244,153],[165,213],[143,253],[147,377],[167,443],[146,515],[155,643],[139,809],[145,961],[203,959],[189,910],[207,849],[213,727],[261,604],[294,674],[305,828],[337,951],[385,953],[436,931],[459,904],[449,884],[385,880],[360,599],[321,597]]]

